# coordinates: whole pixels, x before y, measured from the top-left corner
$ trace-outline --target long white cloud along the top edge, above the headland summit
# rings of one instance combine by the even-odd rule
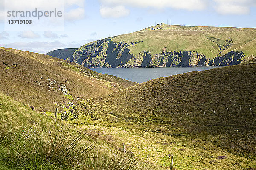
[[[113,6],[176,8],[189,11],[202,10],[207,7],[207,0],[101,0],[101,2]]]

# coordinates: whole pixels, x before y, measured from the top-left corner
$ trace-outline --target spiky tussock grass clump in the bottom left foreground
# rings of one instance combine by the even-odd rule
[[[61,124],[49,133],[6,120],[1,121],[1,127],[0,159],[15,168],[73,169],[77,162],[85,161],[93,147],[83,133]]]

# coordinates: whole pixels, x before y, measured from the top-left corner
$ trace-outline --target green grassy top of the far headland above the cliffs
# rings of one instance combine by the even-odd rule
[[[154,30],[151,30],[153,28]],[[248,36],[250,35],[250,36]],[[213,59],[218,55],[227,54],[230,51],[244,49],[244,59],[250,55],[256,55],[256,28],[232,28],[232,27],[202,27],[202,26],[175,26],[157,25],[145,28],[130,34],[114,37],[114,42],[139,42],[128,47],[131,54],[140,51],[151,51],[158,54],[166,47],[166,51],[197,51],[205,54],[207,59]],[[248,42],[251,42],[247,44]],[[245,45],[246,44],[246,45]],[[148,49],[147,49],[148,48]]]

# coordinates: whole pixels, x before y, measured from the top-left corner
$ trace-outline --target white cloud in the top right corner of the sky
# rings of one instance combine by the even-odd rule
[[[250,7],[256,6],[256,0],[214,0],[215,10],[220,14],[249,14]]]

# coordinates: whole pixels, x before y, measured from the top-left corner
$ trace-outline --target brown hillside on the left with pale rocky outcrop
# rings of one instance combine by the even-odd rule
[[[136,83],[99,74],[73,62],[10,48],[0,48],[0,92],[40,111],[110,94]]]

